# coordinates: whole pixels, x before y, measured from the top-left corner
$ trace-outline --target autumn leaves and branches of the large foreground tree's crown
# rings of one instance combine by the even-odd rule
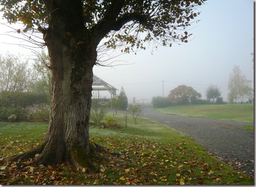
[[[122,52],[145,49],[145,42],[150,42],[154,47],[158,44],[171,46],[171,43],[188,42],[191,35],[186,28],[191,25],[200,12],[197,7],[206,0],[192,1],[37,1],[37,0],[2,0],[1,11],[8,23],[21,22],[25,28],[17,32],[39,32],[46,34],[51,28],[51,16],[56,10],[64,11],[66,37],[75,34],[77,27],[68,25],[70,21],[83,25],[87,35],[94,38],[97,44],[101,39],[107,48],[122,46]],[[63,4],[63,5],[61,5]],[[74,5],[78,4],[78,5]],[[77,20],[72,16],[73,7],[77,6],[82,11],[83,17]],[[77,11],[78,14],[78,11]],[[76,20],[76,21],[74,21]],[[94,34],[94,33],[97,34]],[[86,41],[87,40],[87,41]],[[77,39],[77,44],[90,42],[90,38]]]

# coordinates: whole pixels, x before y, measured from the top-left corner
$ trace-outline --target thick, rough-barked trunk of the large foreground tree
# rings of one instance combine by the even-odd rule
[[[44,34],[52,70],[51,114],[36,162],[69,161],[78,168],[90,167],[89,119],[96,44],[92,44],[83,24],[81,1],[61,3],[65,8],[51,13],[52,21]]]

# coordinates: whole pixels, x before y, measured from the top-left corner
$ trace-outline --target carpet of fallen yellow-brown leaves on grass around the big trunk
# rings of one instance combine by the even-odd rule
[[[8,140],[5,140],[8,141]],[[30,141],[30,140],[29,140]],[[16,153],[34,148],[36,142],[9,141],[1,149],[0,184],[6,185],[202,185],[243,184],[252,177],[224,168],[220,159],[209,163],[186,141],[160,143],[138,136],[91,136],[91,141],[104,145],[107,153],[95,160],[98,173],[77,171],[67,163],[34,166],[34,158],[25,161],[3,161]],[[13,150],[17,150],[14,152]],[[241,163],[240,163],[241,164]],[[231,180],[227,178],[231,176]],[[247,182],[248,182],[247,181]],[[248,183],[246,183],[248,184]]]

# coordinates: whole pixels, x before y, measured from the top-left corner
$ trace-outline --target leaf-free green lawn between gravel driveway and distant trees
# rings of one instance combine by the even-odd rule
[[[224,119],[237,122],[254,122],[253,104],[223,104],[223,105],[178,105],[167,108],[157,108],[157,112],[186,115],[191,117]]]

